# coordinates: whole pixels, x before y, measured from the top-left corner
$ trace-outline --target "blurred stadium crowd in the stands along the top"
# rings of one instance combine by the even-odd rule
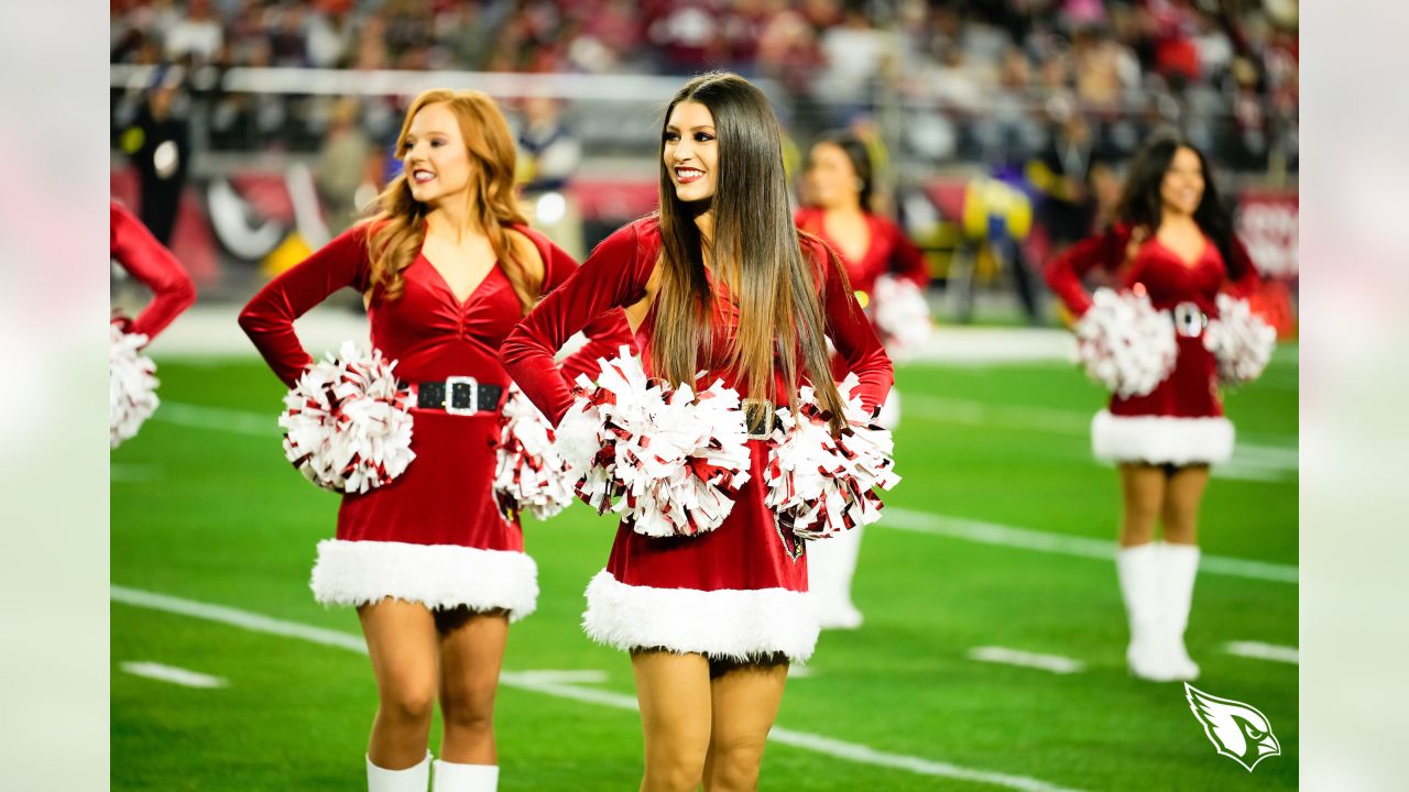
[[[1020,159],[1086,116],[1113,155],[1179,121],[1224,166],[1295,169],[1296,24],[1295,0],[116,0],[111,62],[210,68],[196,85],[217,92],[235,66],[727,68],[776,80],[807,127],[878,97],[923,109],[907,142],[940,161]],[[217,131],[238,138],[241,110],[224,109]],[[263,110],[254,131],[311,147],[328,113],[282,130],[290,116]]]

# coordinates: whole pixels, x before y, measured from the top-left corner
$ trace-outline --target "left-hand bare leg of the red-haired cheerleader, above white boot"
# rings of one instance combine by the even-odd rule
[[[435,620],[426,606],[390,598],[358,607],[358,619],[378,689],[368,760],[386,769],[414,767],[426,760],[435,707]]]

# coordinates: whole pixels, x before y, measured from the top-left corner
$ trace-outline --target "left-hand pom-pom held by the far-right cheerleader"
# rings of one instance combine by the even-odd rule
[[[1179,354],[1169,311],[1154,310],[1147,295],[1096,289],[1075,330],[1076,361],[1123,399],[1154,390]]]

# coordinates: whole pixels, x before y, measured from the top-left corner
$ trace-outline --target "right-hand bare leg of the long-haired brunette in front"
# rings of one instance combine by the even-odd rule
[[[713,679],[706,792],[752,792],[758,788],[764,743],[778,719],[786,681],[788,662],[734,665]]]

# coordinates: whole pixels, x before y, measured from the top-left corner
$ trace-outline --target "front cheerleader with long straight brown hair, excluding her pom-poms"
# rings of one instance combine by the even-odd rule
[[[793,228],[762,92],[728,73],[690,80],[666,110],[659,155],[659,211],[607,237],[510,334],[503,359],[557,424],[573,393],[547,368],[552,349],[620,306],[648,373],[676,386],[721,378],[744,397],[750,479],[723,524],[655,538],[623,523],[588,586],[583,626],[631,654],[641,789],[754,789],[788,664],[817,640],[805,545],[764,505],[772,407],[795,404],[806,379],[836,431],[827,338],[859,376],[867,410],[885,400],[890,362],[840,262]]]

